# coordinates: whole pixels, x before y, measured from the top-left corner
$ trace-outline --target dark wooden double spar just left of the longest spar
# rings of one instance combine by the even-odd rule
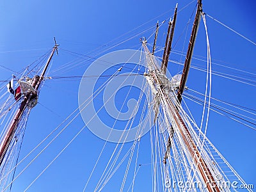
[[[167,36],[166,36],[163,61],[162,61],[162,65],[161,65],[161,70],[163,71],[164,74],[166,74],[166,68],[168,65],[168,60],[169,60],[170,52],[172,49],[172,40],[173,40],[173,34],[174,34],[175,23],[176,23],[176,18],[177,18],[177,8],[178,8],[178,4],[176,4],[176,6],[175,6],[173,20],[172,21],[170,20],[170,22],[169,22],[168,32],[167,32]],[[169,31],[170,31],[171,26],[172,26],[172,29],[171,29],[171,33],[169,36]]]

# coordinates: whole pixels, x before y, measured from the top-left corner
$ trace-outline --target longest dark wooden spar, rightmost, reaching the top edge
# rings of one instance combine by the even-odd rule
[[[185,85],[186,85],[186,82],[188,79],[188,72],[189,72],[189,67],[190,67],[190,63],[191,63],[191,58],[193,55],[193,50],[195,47],[196,35],[198,32],[198,28],[199,28],[201,14],[202,14],[202,0],[198,0],[196,16],[195,16],[195,20],[193,23],[193,28],[192,28],[192,32],[191,32],[191,36],[190,36],[190,40],[189,40],[189,45],[188,45],[188,51],[186,54],[186,60],[184,63],[180,86],[179,86],[179,90],[177,93],[179,102],[181,102],[181,100],[182,100],[181,96],[182,96],[182,93],[184,92],[184,88],[185,88]]]

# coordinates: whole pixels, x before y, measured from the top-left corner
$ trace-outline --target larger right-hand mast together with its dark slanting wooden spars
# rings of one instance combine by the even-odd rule
[[[193,23],[193,29],[192,29],[191,37],[189,40],[188,52],[186,55],[186,61],[184,63],[182,78],[180,81],[179,90],[177,92],[177,100],[179,100],[179,104],[182,100],[182,93],[184,92],[185,84],[188,79],[188,72],[189,72],[189,67],[191,64],[191,58],[193,55],[193,49],[195,47],[195,40],[196,40],[196,35],[198,32],[201,14],[202,14],[202,0],[198,0],[195,20]],[[168,33],[166,36],[166,44],[164,47],[164,54],[163,54],[161,70],[158,72],[157,72],[157,70],[151,70],[150,74],[149,74],[149,76],[152,77],[152,81],[155,81],[159,85],[157,88],[157,93],[156,93],[156,97],[155,97],[155,102],[157,104],[157,108],[155,108],[155,110],[156,110],[155,113],[157,115],[157,113],[159,111],[159,103],[160,103],[160,101],[163,100],[163,103],[167,104],[167,107],[170,108],[170,112],[171,112],[170,116],[173,119],[173,123],[175,124],[175,127],[177,127],[177,129],[175,131],[179,131],[179,134],[182,136],[182,140],[184,140],[184,143],[185,143],[186,147],[188,148],[189,154],[191,155],[191,157],[193,157],[194,164],[197,167],[197,172],[201,175],[202,179],[204,180],[204,183],[207,186],[208,191],[219,192],[220,189],[218,188],[218,186],[212,186],[212,184],[216,184],[216,180],[214,179],[214,177],[211,173],[211,170],[208,168],[207,163],[205,162],[204,158],[202,157],[200,150],[196,146],[196,143],[193,140],[186,123],[180,116],[178,106],[175,106],[175,103],[173,103],[173,101],[172,101],[172,99],[170,99],[170,97],[166,97],[166,90],[168,90],[168,88],[166,89],[166,87],[168,87],[168,86],[166,86],[166,83],[164,83],[164,76],[166,74],[168,58],[169,58],[170,51],[171,51],[176,17],[177,17],[177,5],[175,7],[175,13],[174,13],[173,20],[170,19],[170,22],[168,25]],[[172,27],[172,30],[170,31],[171,27]],[[157,36],[157,30],[156,30],[156,36]],[[155,36],[155,41],[156,41],[156,36]],[[145,45],[146,43],[147,43],[147,41],[143,41],[143,47],[144,47],[145,51],[148,52],[147,46]],[[148,61],[149,61],[148,65],[152,65],[149,68],[154,68],[154,58],[152,58],[153,53],[154,53],[154,48],[153,48],[152,54],[150,54],[150,55],[147,54],[150,57],[150,58],[148,58]],[[148,82],[150,83],[150,81],[148,81]],[[163,95],[163,97],[162,97],[162,95]],[[157,100],[157,98],[159,98],[159,99]],[[156,118],[156,116],[155,116],[155,118]],[[168,123],[168,122],[166,122],[166,123]],[[165,153],[164,161],[163,161],[164,164],[166,164],[166,159],[168,158],[168,153],[170,153],[170,145],[171,145],[170,140],[172,139],[172,136],[173,136],[172,125],[170,126],[169,134],[170,134],[170,136],[168,138],[166,153]]]

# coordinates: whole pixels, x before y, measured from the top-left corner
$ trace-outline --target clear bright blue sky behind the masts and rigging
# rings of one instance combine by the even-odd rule
[[[178,2],[179,9],[190,2],[187,0]],[[11,70],[17,72],[45,54],[54,45],[53,36],[56,36],[56,40],[60,44],[60,50],[59,56],[54,55],[49,76],[82,76],[88,65],[92,63],[93,58],[98,57],[93,56],[94,49],[97,49],[97,51],[100,49],[106,50],[116,44],[118,40],[125,40],[154,26],[157,20],[159,22],[168,20],[170,15],[173,14],[175,4],[175,1],[165,0],[0,1],[0,80],[11,77],[13,74]],[[186,33],[185,27],[195,5],[196,2],[189,4],[178,14],[177,28],[173,39],[174,43],[177,42],[174,47],[176,51],[186,52],[191,23],[189,24],[188,33]],[[252,0],[203,1],[205,13],[235,29],[253,42],[256,42],[255,7],[256,3]],[[246,78],[250,78],[253,84],[252,86],[220,76],[213,76],[212,97],[255,109],[256,84],[253,81],[256,77],[254,58],[256,46],[211,18],[206,17],[206,19],[211,55],[214,62],[250,72],[251,74],[246,74]],[[157,41],[159,47],[164,46],[166,28],[167,26],[164,24],[159,30],[159,40]],[[184,28],[185,32],[182,33]],[[135,30],[131,31],[132,29]],[[125,34],[129,31],[131,32]],[[142,33],[104,53],[119,49],[140,49],[140,37],[150,36],[153,31],[154,29],[151,29]],[[119,36],[121,37],[116,40]],[[185,43],[184,40],[186,40]],[[152,44],[152,41],[152,38],[148,40],[150,44]],[[206,57],[205,48],[205,32],[201,22],[194,54],[198,57]],[[76,59],[75,56],[67,54],[65,50],[93,56],[93,58],[67,72],[54,73],[56,68]],[[160,53],[159,56],[161,56]],[[180,56],[171,54],[170,59],[180,60]],[[76,65],[76,63],[73,64]],[[202,66],[203,64],[198,60],[192,61],[192,65],[195,66]],[[218,65],[214,65],[213,68],[224,73],[232,72],[234,74],[237,72],[238,76],[241,74],[241,71],[221,68]],[[181,69],[174,63],[168,65],[168,70],[172,75],[177,74]],[[187,86],[193,90],[204,92],[204,83],[205,74],[191,69]],[[76,81],[49,80],[45,82],[45,86],[40,92],[40,104],[32,109],[29,116],[20,157],[26,156],[68,114],[77,108],[78,89],[79,80],[77,79]],[[195,114],[195,119],[199,124],[202,107],[189,100],[185,101],[191,105],[191,112]],[[255,116],[252,116],[252,118],[255,119]],[[19,179],[14,182],[12,191],[26,189],[83,126],[84,123],[81,117],[77,118],[74,124],[63,132],[60,139],[54,141],[51,147],[39,159],[36,159],[35,163],[31,164],[26,172],[22,173]],[[252,126],[256,128],[255,125]],[[207,136],[241,177],[248,184],[255,184],[256,188],[256,150],[254,149],[256,131],[225,118],[225,116],[211,112]],[[145,150],[145,154],[138,159],[138,164],[147,164],[150,163],[149,135],[143,137],[142,141],[144,143],[141,150]],[[93,135],[88,129],[84,129],[72,145],[36,180],[29,191],[83,191],[84,184],[92,172],[103,145],[103,140]],[[101,163],[92,180],[90,180],[88,191],[92,191],[93,186],[97,183],[97,179],[104,170],[106,161],[108,161],[114,147],[113,143],[108,144],[108,150],[106,150],[104,157],[100,159]],[[24,164],[17,169],[17,172],[24,168]],[[125,166],[122,170],[124,168]],[[150,165],[141,167],[134,191],[151,190],[150,171]],[[116,173],[113,180],[106,186],[105,191],[118,191],[120,189],[118,178],[122,177],[122,174],[123,172]],[[127,188],[125,189],[127,190]]]

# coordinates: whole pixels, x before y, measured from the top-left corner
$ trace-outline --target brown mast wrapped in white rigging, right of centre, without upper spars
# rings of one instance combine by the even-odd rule
[[[180,111],[175,106],[175,102],[173,102],[173,97],[168,97],[166,92],[170,92],[168,90],[168,84],[164,84],[164,79],[161,78],[161,76],[164,76],[163,71],[159,71],[156,73],[157,64],[154,63],[153,56],[148,51],[147,45],[145,42],[143,42],[143,47],[146,52],[146,56],[148,57],[148,66],[151,65],[151,67],[148,68],[155,68],[155,70],[150,70],[149,74],[147,74],[146,79],[148,80],[149,84],[156,83],[156,88],[154,85],[150,86],[152,88],[152,92],[156,92],[158,97],[161,97],[159,99],[159,102],[161,102],[162,106],[165,106],[167,110],[163,109],[166,116],[169,116],[169,119],[173,120],[173,127],[170,127],[169,133],[170,137],[168,138],[167,148],[166,148],[166,154],[170,152],[170,144],[172,143],[170,140],[172,139],[172,135],[175,134],[175,132],[179,132],[182,141],[184,141],[184,147],[186,150],[188,150],[189,154],[187,156],[193,157],[192,161],[193,164],[195,164],[196,172],[198,172],[198,175],[204,180],[204,184],[207,187],[209,192],[220,192],[220,189],[218,187],[217,181],[214,179],[213,174],[214,172],[211,171],[209,166],[207,165],[206,161],[207,159],[204,159],[202,156],[202,151],[198,148],[198,144],[195,142],[195,139],[193,139],[193,136],[191,136],[191,132],[189,131],[188,125],[184,121],[184,118],[182,118],[182,115],[180,115]],[[153,83],[152,83],[153,82]],[[157,107],[159,104],[157,104]],[[169,110],[168,110],[169,109]],[[171,122],[167,122],[167,124],[170,124]],[[164,157],[164,164],[166,163],[167,157]],[[212,186],[212,184],[216,184],[216,186]]]

